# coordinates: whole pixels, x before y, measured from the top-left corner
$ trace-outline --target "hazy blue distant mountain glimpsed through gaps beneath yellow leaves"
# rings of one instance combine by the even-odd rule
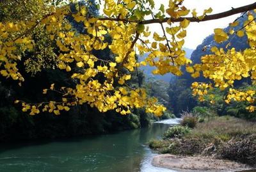
[[[190,58],[191,54],[193,52],[192,49],[184,48],[184,51],[186,51],[186,58]],[[143,56],[140,56],[138,59],[139,61],[143,61],[145,58],[147,58],[148,54],[144,54]],[[152,74],[152,70],[154,70],[156,67],[154,66],[141,66],[140,69],[143,70],[144,74],[148,78],[154,78],[157,80],[161,80],[164,82],[169,83],[173,77],[172,74],[165,74],[165,75],[154,75]]]

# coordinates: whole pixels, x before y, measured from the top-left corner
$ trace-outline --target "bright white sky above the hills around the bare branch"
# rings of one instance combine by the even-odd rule
[[[165,8],[168,7],[168,0],[156,0],[156,8],[159,8],[161,4],[164,4]],[[255,0],[185,0],[184,6],[189,10],[196,9],[196,12],[202,14],[205,9],[209,7],[212,8],[212,13],[220,13],[225,12],[227,10],[231,10],[233,8],[237,8],[239,6],[244,6],[248,4],[255,3]],[[227,27],[228,24],[234,21],[239,14],[232,15],[230,17],[226,17],[218,20],[210,20],[206,22],[191,22],[187,28],[187,36],[185,38],[184,47],[189,49],[196,49],[196,46],[202,43],[204,38],[208,35],[211,35],[214,31],[214,28],[224,28]],[[150,26],[151,31],[159,32],[161,27],[159,24],[154,26]]]

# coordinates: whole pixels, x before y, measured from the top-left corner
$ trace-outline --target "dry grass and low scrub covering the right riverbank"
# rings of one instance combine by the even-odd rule
[[[209,122],[196,123],[193,129],[170,127],[162,140],[152,140],[149,146],[159,153],[211,155],[255,166],[256,123],[215,116]]]

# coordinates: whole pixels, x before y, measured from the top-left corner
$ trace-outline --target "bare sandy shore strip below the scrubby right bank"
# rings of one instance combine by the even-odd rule
[[[181,156],[172,154],[156,155],[152,165],[160,168],[167,168],[182,172],[227,172],[250,170],[252,167],[238,162],[213,159],[205,156]]]

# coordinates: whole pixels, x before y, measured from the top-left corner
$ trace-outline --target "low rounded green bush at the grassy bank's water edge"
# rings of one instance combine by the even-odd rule
[[[182,137],[184,134],[187,134],[190,132],[190,129],[186,126],[180,126],[175,125],[173,127],[170,127],[166,132],[164,132],[164,139],[170,139],[173,137]]]

